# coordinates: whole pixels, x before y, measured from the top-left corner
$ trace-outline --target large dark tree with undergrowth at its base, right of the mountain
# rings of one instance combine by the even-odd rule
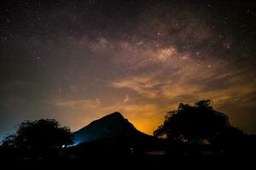
[[[178,155],[227,156],[247,153],[246,138],[230,124],[228,116],[213,110],[211,101],[201,100],[195,105],[180,104],[168,111],[165,121],[154,136],[169,141],[166,150]],[[253,145],[250,146],[253,149]]]

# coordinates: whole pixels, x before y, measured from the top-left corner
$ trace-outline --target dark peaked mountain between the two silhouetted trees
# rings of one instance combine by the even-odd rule
[[[90,122],[89,125],[74,132],[75,144],[91,142],[100,139],[113,139],[119,137],[147,136],[134,127],[131,122],[124,118],[119,112]]]

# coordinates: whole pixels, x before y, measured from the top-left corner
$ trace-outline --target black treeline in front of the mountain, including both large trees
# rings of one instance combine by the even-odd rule
[[[177,110],[168,111],[165,121],[154,131],[154,137],[73,144],[70,128],[61,127],[54,119],[21,122],[14,134],[3,139],[0,159],[68,160],[79,159],[81,153],[103,155],[103,150],[108,150],[107,155],[117,150],[119,156],[146,156],[152,150],[164,151],[166,157],[251,156],[256,151],[256,136],[232,126],[228,116],[212,108],[210,100],[201,100],[195,105],[180,104]]]

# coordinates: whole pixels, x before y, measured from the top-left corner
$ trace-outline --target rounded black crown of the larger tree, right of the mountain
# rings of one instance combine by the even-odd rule
[[[211,142],[218,134],[230,127],[228,116],[214,111],[210,100],[195,105],[180,104],[177,110],[168,111],[165,121],[154,131],[175,143],[202,144]]]

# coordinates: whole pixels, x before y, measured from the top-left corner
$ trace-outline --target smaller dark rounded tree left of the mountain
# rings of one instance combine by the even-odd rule
[[[52,150],[60,150],[68,144],[73,144],[73,133],[68,127],[61,127],[54,119],[39,119],[21,122],[15,134],[3,139],[2,146],[49,156]]]

